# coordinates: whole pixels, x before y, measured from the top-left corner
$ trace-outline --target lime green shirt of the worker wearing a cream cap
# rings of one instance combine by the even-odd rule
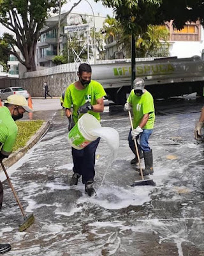
[[[9,156],[17,138],[18,127],[15,124],[11,112],[7,107],[0,107],[0,142],[1,153]]]

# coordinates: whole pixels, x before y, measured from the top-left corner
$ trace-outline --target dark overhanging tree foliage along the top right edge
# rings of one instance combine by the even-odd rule
[[[99,0],[95,0],[98,2]],[[101,0],[106,7],[112,7],[116,19],[128,34],[147,29],[149,24],[159,25],[173,20],[173,26],[183,28],[189,21],[200,19],[204,25],[203,0]]]

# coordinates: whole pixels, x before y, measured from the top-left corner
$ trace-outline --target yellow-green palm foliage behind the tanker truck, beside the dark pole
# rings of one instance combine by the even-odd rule
[[[122,53],[120,58],[131,58],[131,35],[124,33],[119,20],[107,16],[103,24],[105,40],[116,42],[117,52]],[[140,30],[140,35],[133,34],[136,39],[136,57],[168,56],[169,31],[164,26],[149,25],[147,31]],[[111,56],[115,58],[115,56]]]

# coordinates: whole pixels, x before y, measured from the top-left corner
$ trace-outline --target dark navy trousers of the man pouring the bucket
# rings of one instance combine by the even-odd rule
[[[85,184],[87,180],[94,180],[95,176],[95,159],[96,148],[98,147],[100,138],[92,141],[82,150],[71,148],[73,158],[73,172],[82,175],[82,182]]]

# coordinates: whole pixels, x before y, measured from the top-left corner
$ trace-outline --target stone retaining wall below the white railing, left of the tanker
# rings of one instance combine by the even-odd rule
[[[50,95],[61,96],[69,84],[77,81],[75,72],[54,74],[52,76],[31,77],[19,80],[19,86],[27,90],[31,97],[44,97],[43,83],[47,82]]]

